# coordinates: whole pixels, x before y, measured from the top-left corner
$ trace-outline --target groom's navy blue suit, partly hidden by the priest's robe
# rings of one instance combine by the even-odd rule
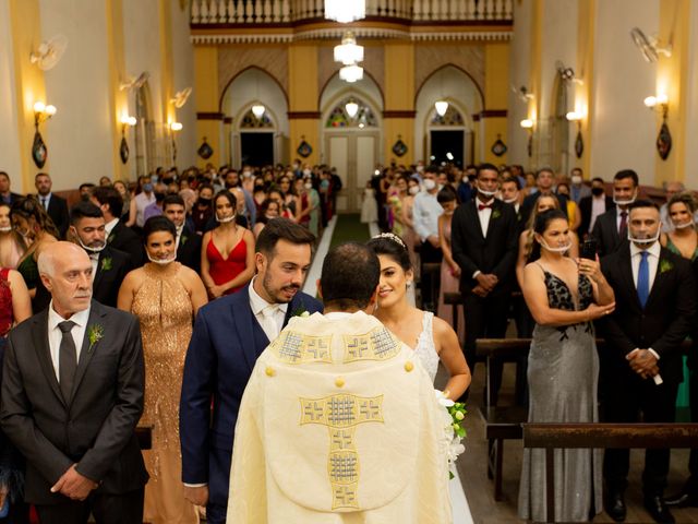
[[[284,325],[293,314],[322,309],[320,301],[299,291],[288,306]],[[182,480],[208,484],[210,524],[226,520],[238,409],[254,362],[268,344],[252,313],[249,286],[198,311],[186,352],[180,403]]]

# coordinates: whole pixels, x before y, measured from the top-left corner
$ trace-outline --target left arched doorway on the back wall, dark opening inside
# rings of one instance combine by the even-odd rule
[[[254,105],[264,106],[262,116],[252,112]],[[232,117],[226,155],[231,166],[288,162],[288,103],[270,74],[256,67],[239,73],[226,87],[220,110]],[[265,164],[255,164],[263,160]]]

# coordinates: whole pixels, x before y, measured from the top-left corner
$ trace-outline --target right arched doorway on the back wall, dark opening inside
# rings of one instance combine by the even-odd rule
[[[435,110],[437,100],[448,102],[443,116]],[[414,102],[414,158],[461,165],[482,158],[482,152],[474,150],[479,130],[472,115],[483,108],[482,93],[465,71],[455,66],[434,71],[419,88]],[[448,153],[453,159],[446,156]]]

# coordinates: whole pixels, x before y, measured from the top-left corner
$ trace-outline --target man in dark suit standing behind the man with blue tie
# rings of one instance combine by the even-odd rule
[[[600,257],[611,254],[627,243],[628,209],[637,199],[638,186],[637,172],[633,169],[623,169],[613,177],[615,207],[600,215],[591,230]]]

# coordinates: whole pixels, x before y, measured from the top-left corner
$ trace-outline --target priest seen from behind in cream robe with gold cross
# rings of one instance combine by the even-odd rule
[[[256,361],[228,523],[452,522],[443,408],[413,352],[366,314],[380,267],[364,246],[332,250],[325,314],[299,312]]]

